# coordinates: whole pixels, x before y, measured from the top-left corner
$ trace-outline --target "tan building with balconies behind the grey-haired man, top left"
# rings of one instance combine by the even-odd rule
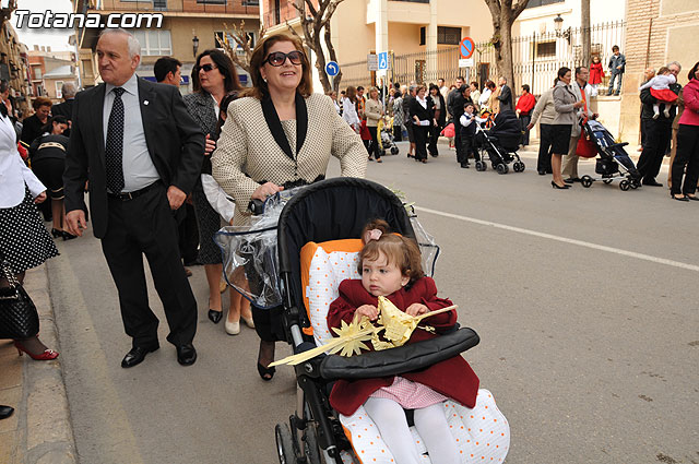
[[[258,39],[260,9],[257,0],[72,0],[75,11],[98,13],[107,17],[111,13],[161,13],[162,23],[152,22],[150,27],[130,29],[141,44],[141,64],[137,73],[155,81],[153,64],[158,58],[169,56],[182,62],[180,91],[190,90],[190,74],[198,53],[221,48],[216,37],[233,25],[240,26]],[[95,48],[98,29],[76,28],[80,56],[80,78],[83,87],[99,82]],[[247,73],[237,69],[244,85],[249,81]]]

